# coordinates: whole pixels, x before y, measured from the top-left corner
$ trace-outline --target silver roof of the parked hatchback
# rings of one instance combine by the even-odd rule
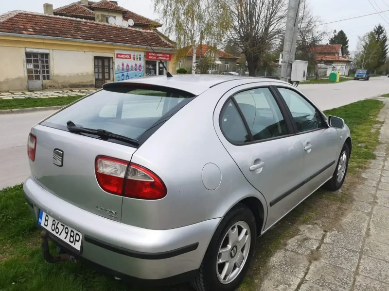
[[[269,82],[274,81],[273,79],[266,78],[255,78],[245,77],[236,75],[174,75],[173,77],[167,78],[166,76],[150,76],[138,79],[131,79],[126,81],[115,82],[118,83],[137,83],[137,84],[150,84],[157,86],[164,86],[169,88],[176,88],[183,90],[194,95],[199,95],[209,88],[228,81],[244,80],[252,81],[256,79],[258,82]],[[108,85],[109,84],[109,85]],[[113,83],[106,83],[105,86],[113,86]]]

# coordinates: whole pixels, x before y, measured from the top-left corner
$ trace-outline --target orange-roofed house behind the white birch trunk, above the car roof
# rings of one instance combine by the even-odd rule
[[[186,47],[182,50],[185,57],[178,61],[178,68],[183,67],[188,71],[191,71],[193,62],[193,49],[191,47]],[[198,64],[200,60],[200,50],[202,58],[208,57],[211,59],[212,65],[209,65],[208,67],[210,74],[220,74],[222,72],[236,71],[236,61],[238,60],[238,57],[208,45],[201,45],[201,47],[200,45],[197,46],[196,64]]]

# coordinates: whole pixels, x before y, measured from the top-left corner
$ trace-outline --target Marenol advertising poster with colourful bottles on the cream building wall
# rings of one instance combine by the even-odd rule
[[[143,77],[143,64],[143,52],[130,50],[115,50],[114,81],[124,81]]]

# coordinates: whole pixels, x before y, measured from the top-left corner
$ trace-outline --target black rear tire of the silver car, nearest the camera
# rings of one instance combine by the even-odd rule
[[[242,248],[242,254],[248,250],[248,253],[246,254],[246,259],[244,262],[241,260],[241,263],[243,262],[243,266],[241,267],[240,272],[235,275],[235,277],[232,279],[232,281],[228,282],[228,277],[230,276],[224,276],[225,282],[222,283],[219,279],[219,275],[222,275],[220,273],[223,273],[222,270],[224,270],[223,267],[229,264],[229,262],[222,262],[217,263],[217,260],[219,258],[219,250],[223,247],[229,247],[226,242],[229,241],[229,231],[233,229],[233,227],[236,226],[236,224],[246,224],[248,226],[248,230],[246,231],[246,234],[248,234],[248,239],[245,242],[244,246]],[[196,275],[196,277],[191,282],[192,287],[196,291],[233,291],[235,290],[239,284],[242,282],[244,276],[246,275],[248,271],[248,267],[250,265],[251,259],[254,254],[255,249],[255,240],[257,237],[257,230],[256,230],[256,223],[254,215],[252,214],[251,210],[248,209],[244,204],[237,204],[234,206],[223,218],[223,220],[220,222],[220,225],[216,228],[215,233],[213,234],[213,237],[211,239],[211,242],[208,246],[208,249],[205,253],[204,259],[200,265],[199,273]],[[237,235],[241,236],[243,228],[240,226],[237,226],[236,231],[239,231]],[[249,243],[249,246],[248,246]],[[229,251],[225,252],[228,254],[228,259],[240,259],[239,252],[239,243],[235,245],[235,243],[230,243]],[[235,248],[236,246],[236,248]],[[233,255],[233,249],[235,249],[235,255]],[[221,257],[220,257],[221,258]],[[242,256],[242,258],[244,258]],[[233,271],[231,273],[231,276],[234,275],[234,272],[238,270],[237,264],[231,263],[233,265]],[[218,275],[219,274],[219,275]],[[222,279],[221,279],[222,280]]]

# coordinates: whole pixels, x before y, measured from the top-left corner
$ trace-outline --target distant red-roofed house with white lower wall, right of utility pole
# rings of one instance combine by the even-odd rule
[[[311,49],[318,65],[332,67],[340,75],[348,75],[352,61],[343,53],[342,45],[318,45]]]

